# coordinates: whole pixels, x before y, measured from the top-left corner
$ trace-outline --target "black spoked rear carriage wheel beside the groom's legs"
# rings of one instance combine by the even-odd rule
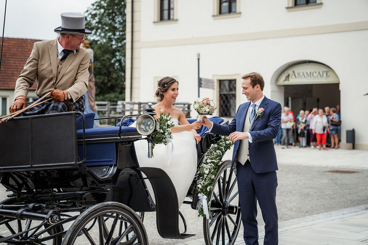
[[[208,198],[211,218],[203,220],[206,245],[233,245],[239,232],[241,213],[236,169],[230,170],[231,161],[221,163]]]

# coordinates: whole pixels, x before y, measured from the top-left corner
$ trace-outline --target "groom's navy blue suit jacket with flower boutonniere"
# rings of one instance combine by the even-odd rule
[[[242,132],[245,115],[247,115],[250,104],[250,101],[241,104],[235,118],[229,125],[213,123],[211,133],[229,135],[234,131]],[[258,118],[253,122],[249,131],[253,138],[252,143],[249,143],[249,159],[254,172],[267,173],[278,169],[273,139],[276,138],[281,123],[281,105],[265,96],[259,108],[263,108],[265,111],[262,118]],[[240,140],[237,140],[234,144],[232,164],[234,164],[239,142]]]

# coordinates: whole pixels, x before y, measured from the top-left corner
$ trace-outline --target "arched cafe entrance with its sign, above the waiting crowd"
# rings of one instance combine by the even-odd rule
[[[295,115],[300,109],[336,107],[340,104],[339,78],[332,68],[316,61],[293,61],[272,76],[271,98],[289,106]]]

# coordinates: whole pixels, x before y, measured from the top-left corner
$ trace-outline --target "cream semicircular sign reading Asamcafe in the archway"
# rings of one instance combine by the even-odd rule
[[[290,67],[282,73],[277,85],[340,83],[336,73],[326,65],[304,63]]]

